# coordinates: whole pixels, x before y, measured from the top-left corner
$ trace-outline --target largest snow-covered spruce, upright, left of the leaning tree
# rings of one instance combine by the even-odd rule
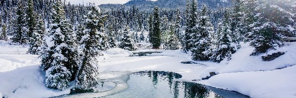
[[[68,23],[61,0],[53,5],[52,24],[43,38],[41,66],[48,88],[65,90],[77,73],[77,48],[72,25]]]

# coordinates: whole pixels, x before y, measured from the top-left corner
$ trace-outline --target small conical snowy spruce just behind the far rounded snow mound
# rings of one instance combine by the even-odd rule
[[[127,49],[127,50],[131,50],[131,51],[136,50],[135,42],[132,38],[132,34],[131,34],[129,26],[124,25],[121,32],[123,35],[121,36],[121,38],[119,40],[118,47],[121,49]]]

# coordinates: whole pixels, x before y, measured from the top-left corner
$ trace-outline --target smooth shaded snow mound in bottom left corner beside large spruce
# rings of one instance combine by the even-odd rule
[[[49,98],[70,93],[51,90],[44,85],[45,75],[38,66],[22,67],[0,73],[0,92],[5,98]]]

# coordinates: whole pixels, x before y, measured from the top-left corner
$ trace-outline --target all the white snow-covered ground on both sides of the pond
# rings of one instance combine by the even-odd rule
[[[220,74],[209,80],[191,82],[237,91],[252,98],[296,98],[295,49],[296,43],[288,43],[278,49],[287,51],[286,54],[270,62],[261,61],[261,55],[250,56],[254,48],[244,43],[230,61],[222,61],[220,64],[181,64],[183,61],[190,61],[190,54],[180,50],[157,50],[162,53],[139,57],[130,56],[132,53],[127,50],[109,49],[104,51],[104,56],[98,60],[102,73],[169,71],[182,74],[183,77],[178,80],[191,81],[201,79],[208,75],[208,72],[214,71]],[[44,72],[38,69],[40,59],[37,55],[25,54],[26,50],[26,46],[0,43],[0,94],[8,98],[46,98],[69,94],[70,88],[57,91],[45,87]],[[284,69],[276,70],[278,68]]]

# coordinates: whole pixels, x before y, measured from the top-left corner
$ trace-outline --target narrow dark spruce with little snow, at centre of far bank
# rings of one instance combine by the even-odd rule
[[[149,42],[152,44],[152,49],[159,49],[161,45],[161,30],[160,30],[160,16],[159,8],[153,9],[152,30],[149,34]]]

